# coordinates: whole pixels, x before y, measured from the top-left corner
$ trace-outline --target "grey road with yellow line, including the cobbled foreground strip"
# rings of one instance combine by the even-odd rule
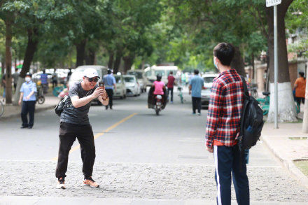
[[[69,156],[67,189],[55,190],[59,118],[52,110],[36,113],[34,129],[20,129],[20,118],[1,121],[0,195],[214,200],[214,157],[204,148],[207,111],[192,115],[188,94],[181,104],[175,93],[174,104],[157,116],[146,98],[115,100],[113,110],[90,108],[99,190],[80,186],[78,141]],[[290,178],[262,141],[251,150],[248,178],[253,202],[308,202],[308,190]]]

